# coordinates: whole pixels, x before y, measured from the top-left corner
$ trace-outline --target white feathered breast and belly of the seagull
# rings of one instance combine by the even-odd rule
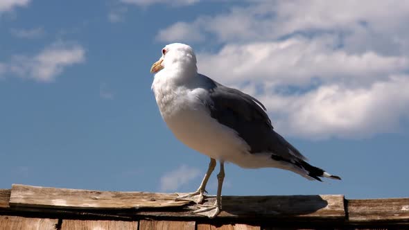
[[[185,145],[225,161],[234,162],[238,155],[248,154],[249,146],[234,130],[211,118],[202,102],[207,94],[204,89],[154,81],[153,91],[164,121]]]

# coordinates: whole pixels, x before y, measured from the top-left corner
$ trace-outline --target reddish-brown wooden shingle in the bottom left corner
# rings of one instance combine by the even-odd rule
[[[20,216],[0,215],[0,229],[44,229],[55,230],[58,224],[56,219],[23,218]]]

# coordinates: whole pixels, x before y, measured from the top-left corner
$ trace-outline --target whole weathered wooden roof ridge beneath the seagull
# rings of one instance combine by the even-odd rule
[[[78,224],[85,226],[85,229],[91,228],[96,224],[92,222],[94,220],[101,220],[103,226],[108,228],[110,224],[135,226],[134,223],[137,222],[132,221],[147,218],[153,220],[141,220],[139,227],[160,229],[170,223],[171,229],[192,226],[194,229],[195,221],[202,222],[197,225],[198,229],[254,229],[254,226],[246,224],[258,222],[409,226],[409,198],[345,200],[343,195],[223,196],[222,212],[215,220],[209,220],[193,213],[198,209],[196,204],[189,201],[175,202],[176,196],[166,193],[87,191],[17,184],[12,185],[11,190],[0,190],[0,211],[3,213],[1,221],[2,224],[8,224],[4,226],[10,226],[10,223],[15,224],[20,220],[21,224],[55,222],[37,219],[40,216],[81,219],[64,220],[64,227],[67,229],[70,226],[75,229]],[[214,201],[215,197],[206,197],[204,204],[213,204]],[[33,218],[20,219],[10,215]],[[243,224],[232,224],[234,222]],[[222,225],[217,225],[220,223]]]

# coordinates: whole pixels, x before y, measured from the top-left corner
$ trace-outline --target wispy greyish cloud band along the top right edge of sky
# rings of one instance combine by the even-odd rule
[[[371,6],[371,7],[368,7]],[[394,14],[388,9],[394,8]],[[340,31],[354,33],[360,27],[372,35],[393,32],[408,35],[408,1],[252,1],[245,7],[232,7],[227,13],[202,15],[184,28],[214,35],[220,42],[277,39],[297,32]],[[169,29],[165,28],[168,33]],[[161,31],[159,31],[161,33]],[[182,33],[179,39],[188,31]],[[170,33],[172,34],[172,33]],[[172,37],[175,39],[175,37]],[[161,36],[162,41],[171,41]],[[195,40],[193,40],[195,41]]]

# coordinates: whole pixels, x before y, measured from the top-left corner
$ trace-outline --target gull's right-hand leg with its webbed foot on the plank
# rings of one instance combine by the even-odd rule
[[[218,179],[218,186],[217,186],[217,196],[216,202],[214,205],[205,206],[203,205],[202,208],[193,211],[193,213],[198,213],[199,215],[206,215],[209,218],[215,218],[222,209],[222,187],[223,187],[223,180],[225,179],[225,162],[220,161],[220,172],[217,175]]]

